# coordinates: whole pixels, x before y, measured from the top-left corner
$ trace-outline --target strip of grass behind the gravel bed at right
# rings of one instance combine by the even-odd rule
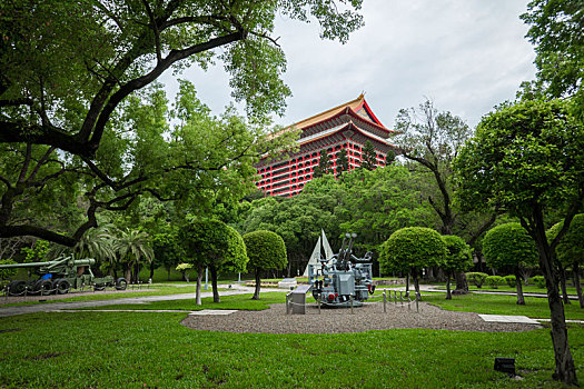
[[[446,300],[444,293],[428,293],[423,300],[442,309],[453,311],[467,311],[489,315],[522,315],[529,318],[548,319],[550,306],[546,298],[526,297],[525,306],[517,306],[515,296],[499,295],[457,295],[452,300]],[[577,301],[564,306],[566,319],[584,320],[584,309]]]

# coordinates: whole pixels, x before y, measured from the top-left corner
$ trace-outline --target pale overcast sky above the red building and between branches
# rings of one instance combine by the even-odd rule
[[[365,98],[377,118],[393,127],[397,111],[425,97],[476,126],[493,106],[514,99],[535,74],[533,47],[519,20],[527,0],[365,0],[365,26],[346,44],[319,39],[318,23],[278,17],[293,91],[280,124]],[[232,99],[220,66],[189,69],[199,98],[219,114]],[[170,94],[176,81],[162,78]]]

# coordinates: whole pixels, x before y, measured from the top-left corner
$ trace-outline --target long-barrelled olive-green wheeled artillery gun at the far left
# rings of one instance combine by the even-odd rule
[[[96,277],[91,266],[96,265],[93,258],[73,259],[73,257],[60,257],[53,261],[0,265],[0,269],[33,268],[40,276],[36,280],[13,280],[8,285],[10,296],[50,295],[57,292],[65,295],[69,289],[93,286],[96,290],[106,287],[116,287],[123,290],[128,286],[125,278],[113,279],[111,276]]]

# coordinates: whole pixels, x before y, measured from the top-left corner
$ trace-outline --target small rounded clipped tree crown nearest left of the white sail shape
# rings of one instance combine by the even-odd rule
[[[244,236],[250,270],[284,269],[288,262],[286,245],[279,235],[260,230]]]

